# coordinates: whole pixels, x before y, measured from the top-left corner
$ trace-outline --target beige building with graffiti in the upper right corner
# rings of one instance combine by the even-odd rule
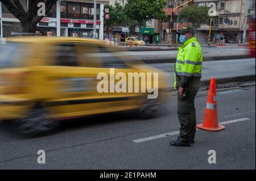
[[[216,14],[212,16],[211,41],[217,42],[220,36],[226,43],[245,43],[248,41],[249,24],[247,19],[255,15],[255,0],[195,0],[199,6],[216,5]],[[201,24],[197,28],[197,39],[207,41],[209,26]]]

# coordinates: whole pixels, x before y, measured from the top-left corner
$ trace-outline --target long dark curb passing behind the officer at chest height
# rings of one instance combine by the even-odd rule
[[[236,55],[236,56],[216,56],[216,57],[204,57],[203,61],[217,61],[217,60],[233,60],[248,58],[247,55]],[[175,63],[176,58],[163,58],[163,59],[147,59],[142,60],[146,64],[160,64],[160,63]]]

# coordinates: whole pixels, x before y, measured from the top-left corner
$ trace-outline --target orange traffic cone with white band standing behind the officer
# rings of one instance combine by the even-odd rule
[[[197,124],[196,127],[208,131],[221,131],[222,129],[225,129],[224,126],[218,125],[216,85],[214,77],[210,79],[207,107],[205,108],[203,124]]]

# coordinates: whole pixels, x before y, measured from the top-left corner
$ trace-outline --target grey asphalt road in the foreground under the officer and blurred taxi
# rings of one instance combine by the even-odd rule
[[[207,92],[197,95],[198,123],[206,100]],[[45,137],[24,138],[1,123],[0,169],[255,169],[255,87],[218,91],[217,102],[219,122],[233,121],[221,132],[197,131],[189,148],[169,144],[179,131],[176,96],[155,119],[134,111],[91,116],[65,121]],[[37,162],[38,150],[46,151],[45,164]],[[215,164],[208,163],[209,150],[216,151]]]

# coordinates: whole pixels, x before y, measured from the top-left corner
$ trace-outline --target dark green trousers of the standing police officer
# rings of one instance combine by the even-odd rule
[[[196,134],[196,109],[195,97],[200,88],[200,80],[192,82],[184,88],[187,95],[181,99],[177,95],[177,115],[180,121],[181,141],[189,141],[195,138]]]

